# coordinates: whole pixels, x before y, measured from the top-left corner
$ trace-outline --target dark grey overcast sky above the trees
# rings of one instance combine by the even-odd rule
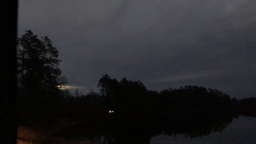
[[[103,74],[149,90],[201,85],[256,96],[255,0],[20,0],[19,36],[49,36],[68,85]]]

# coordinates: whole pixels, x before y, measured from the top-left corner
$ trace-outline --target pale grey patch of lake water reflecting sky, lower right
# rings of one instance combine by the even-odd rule
[[[184,135],[176,137],[167,135],[158,135],[151,138],[150,144],[183,144],[183,143],[256,143],[256,118],[241,116],[234,118],[232,123],[223,131],[211,133],[204,137],[189,138]]]

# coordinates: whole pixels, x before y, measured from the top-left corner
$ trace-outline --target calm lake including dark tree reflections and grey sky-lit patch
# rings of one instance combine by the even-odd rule
[[[181,121],[181,119],[180,119]],[[231,119],[202,119],[189,124],[174,122],[129,122],[118,124],[77,125],[67,130],[72,143],[256,143],[256,117],[239,116]],[[219,121],[219,122],[218,122]],[[209,123],[207,125],[207,123]],[[198,124],[198,125],[196,125]],[[80,130],[78,130],[80,128]],[[73,135],[73,138],[68,138]]]

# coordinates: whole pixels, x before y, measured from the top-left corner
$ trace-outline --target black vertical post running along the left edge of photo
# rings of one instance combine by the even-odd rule
[[[0,3],[0,143],[16,144],[18,0],[2,0]]]

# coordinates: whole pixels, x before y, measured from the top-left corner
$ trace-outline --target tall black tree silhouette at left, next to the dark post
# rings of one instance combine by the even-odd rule
[[[38,38],[31,30],[18,38],[19,88],[26,93],[41,93],[44,96],[58,91],[61,75],[58,50],[47,36]]]

